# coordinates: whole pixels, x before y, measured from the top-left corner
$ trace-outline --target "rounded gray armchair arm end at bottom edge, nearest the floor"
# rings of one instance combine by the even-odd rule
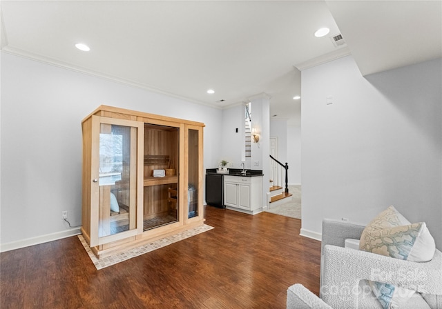
[[[302,284],[294,284],[287,290],[287,309],[332,309]]]

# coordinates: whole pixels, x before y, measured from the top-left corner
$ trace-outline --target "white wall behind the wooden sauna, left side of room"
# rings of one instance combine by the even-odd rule
[[[2,250],[68,235],[62,210],[81,223],[81,120],[101,104],[203,122],[218,159],[221,110],[4,52],[1,77]]]

